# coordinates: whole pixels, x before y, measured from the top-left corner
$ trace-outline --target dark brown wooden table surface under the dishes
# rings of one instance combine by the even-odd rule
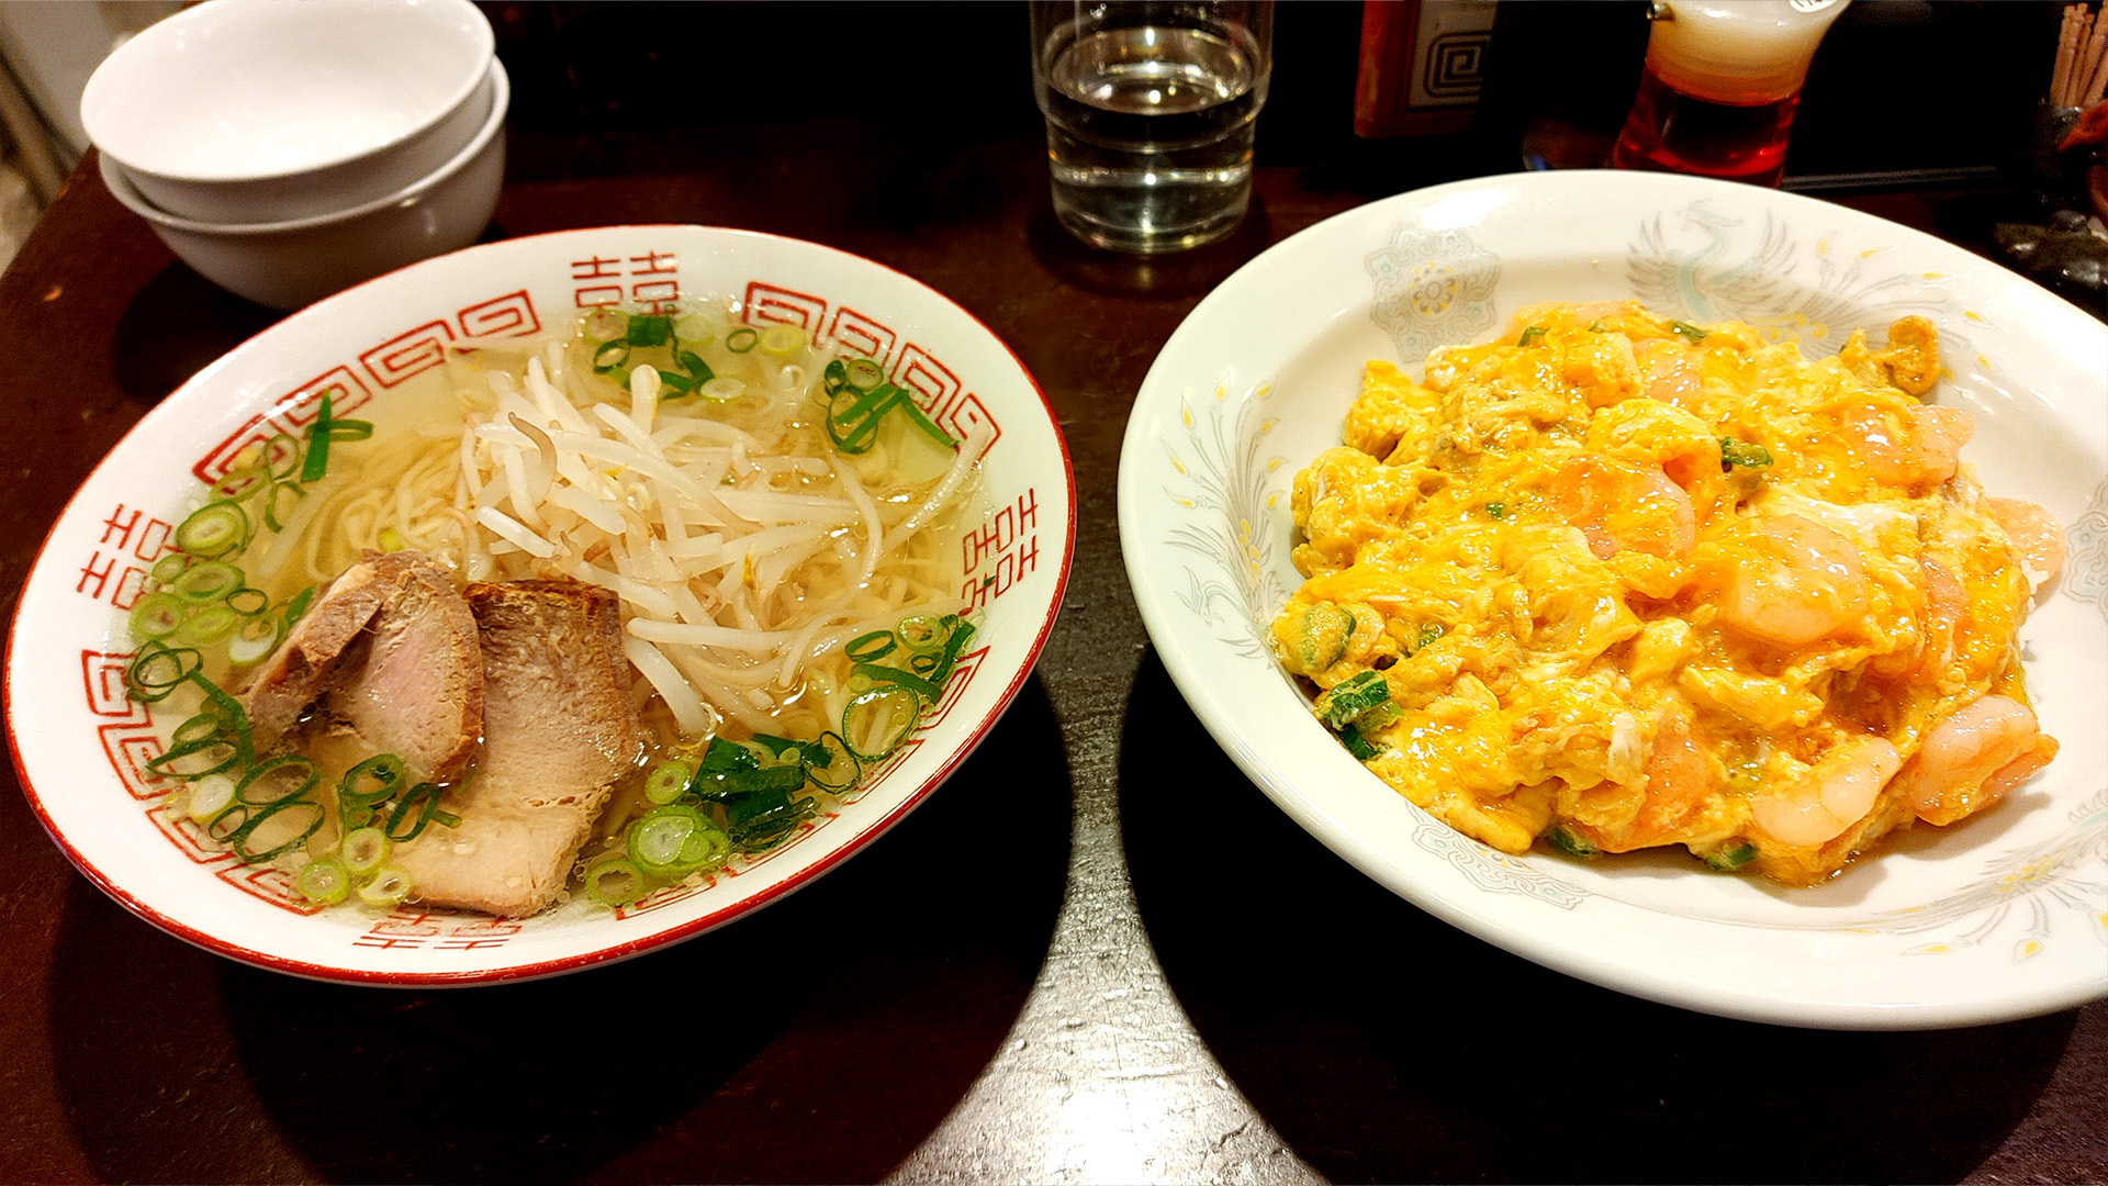
[[[516,135],[491,236],[795,234],[1016,348],[1069,437],[1079,532],[991,741],[780,905],[455,992],[192,950],[76,876],[0,774],[0,1180],[2108,1180],[2108,1005],[1836,1034],[1619,996],[1381,891],[1208,741],[1119,561],[1126,414],[1216,281],[1379,192],[1263,169],[1231,241],[1134,262],[1052,224],[1033,139],[921,144],[911,181],[858,194],[831,184],[826,135],[858,131],[721,129],[679,158]],[[1971,203],[1853,205],[1971,241]],[[0,279],[0,620],[95,460],[274,319],[76,171]]]

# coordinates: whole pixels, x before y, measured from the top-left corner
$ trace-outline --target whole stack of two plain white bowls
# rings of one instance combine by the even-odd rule
[[[466,247],[512,87],[470,0],[209,0],[80,95],[110,192],[219,287],[299,308]]]

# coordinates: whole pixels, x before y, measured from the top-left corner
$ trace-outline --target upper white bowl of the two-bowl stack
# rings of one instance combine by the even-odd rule
[[[314,217],[460,154],[491,110],[493,44],[468,0],[211,0],[103,59],[80,122],[169,213]]]

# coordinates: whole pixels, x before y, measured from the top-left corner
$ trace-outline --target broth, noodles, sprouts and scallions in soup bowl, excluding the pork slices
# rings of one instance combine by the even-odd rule
[[[158,772],[183,781],[192,823],[280,863],[318,903],[356,891],[373,905],[422,897],[392,848],[470,834],[476,766],[430,777],[375,753],[327,696],[285,743],[264,741],[264,688],[327,629],[306,614],[379,557],[470,597],[611,595],[639,745],[565,859],[569,884],[584,876],[599,901],[696,884],[854,793],[972,639],[957,521],[980,441],[934,426],[875,363],[736,312],[597,310],[550,336],[479,342],[371,422],[325,409],[306,441],[240,458],[251,490],[230,475],[192,513],[247,509],[240,547],[213,551],[207,532],[150,582],[175,595],[211,570],[234,589],[207,606],[238,597],[238,629],[190,629],[194,601],[133,616],[133,690],[173,724]],[[297,481],[316,452],[327,473]]]

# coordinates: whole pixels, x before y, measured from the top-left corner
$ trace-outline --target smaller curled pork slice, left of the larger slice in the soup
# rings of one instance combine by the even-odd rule
[[[483,732],[476,618],[445,568],[419,551],[367,553],[316,597],[242,692],[268,751],[318,705],[365,749],[419,777],[457,777]]]

